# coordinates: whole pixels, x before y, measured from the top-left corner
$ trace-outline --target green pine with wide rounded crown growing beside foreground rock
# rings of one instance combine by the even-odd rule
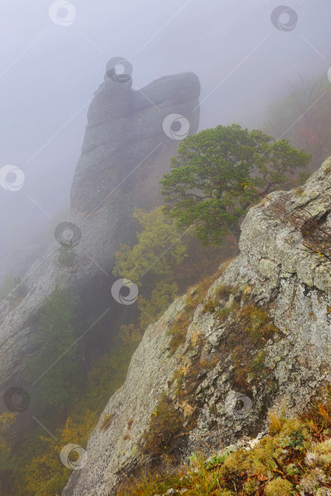
[[[240,125],[203,130],[186,137],[171,160],[172,171],[161,181],[165,208],[182,229],[193,226],[203,244],[219,244],[225,235],[240,235],[240,221],[264,194],[293,186],[298,167],[310,162],[288,140],[276,141]]]

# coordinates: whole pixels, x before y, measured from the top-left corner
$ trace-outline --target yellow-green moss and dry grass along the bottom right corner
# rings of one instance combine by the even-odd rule
[[[228,446],[207,460],[194,453],[189,464],[142,472],[120,495],[330,495],[331,389],[324,404],[317,403],[301,418],[270,412],[269,419],[269,435],[252,449]]]

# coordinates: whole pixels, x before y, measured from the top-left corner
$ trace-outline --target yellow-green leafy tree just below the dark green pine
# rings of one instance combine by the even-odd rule
[[[191,233],[184,236],[162,207],[150,213],[135,210],[142,230],[134,247],[123,244],[116,253],[113,274],[133,281],[139,288],[140,331],[157,320],[179,294],[200,278],[213,274],[231,247],[202,247]],[[235,249],[233,247],[232,249]]]

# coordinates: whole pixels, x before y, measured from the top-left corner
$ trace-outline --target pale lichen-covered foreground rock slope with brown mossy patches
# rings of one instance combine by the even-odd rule
[[[125,476],[153,459],[184,461],[196,449],[208,456],[203,440],[217,450],[257,436],[268,409],[291,415],[323,395],[331,381],[331,262],[305,249],[300,233],[303,244],[291,243],[275,201],[291,213],[304,209],[330,233],[331,159],[302,188],[251,208],[240,254],[147,328],[63,495],[116,495]],[[176,349],[174,333],[185,327]]]

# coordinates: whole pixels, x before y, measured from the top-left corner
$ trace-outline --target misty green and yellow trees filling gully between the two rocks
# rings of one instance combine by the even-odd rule
[[[89,366],[84,359],[84,339],[71,346],[77,339],[76,305],[72,295],[56,288],[45,300],[39,315],[41,353],[26,363],[26,380],[33,383],[41,376],[32,397],[33,407],[38,412],[35,416],[56,439],[47,436],[37,423],[23,436],[14,436],[18,415],[6,412],[0,416],[3,462],[0,480],[8,495],[60,493],[72,473],[60,461],[61,449],[69,443],[86,448],[89,434],[106,403],[125,381],[131,356],[151,322],[150,315],[156,320],[179,289],[185,290],[201,274],[213,274],[230,247],[230,242],[225,242],[223,249],[218,248],[216,252],[215,248],[201,247],[196,239],[188,236],[164,254],[180,237],[174,221],[167,221],[162,208],[150,213],[137,210],[135,215],[143,228],[138,233],[138,243],[133,248],[122,247],[114,271],[136,280],[138,274],[155,262],[144,278],[144,285],[140,286],[140,318],[131,325],[120,326],[109,349]],[[43,375],[59,356],[62,358],[52,366],[51,373]],[[111,419],[103,420],[106,429]]]

